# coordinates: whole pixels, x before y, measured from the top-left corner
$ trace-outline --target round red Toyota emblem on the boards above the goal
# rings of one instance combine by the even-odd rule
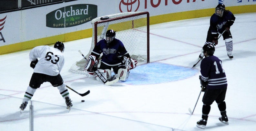
[[[125,10],[125,8],[127,9],[127,12],[135,12],[138,10],[139,0],[126,0],[127,2],[124,2],[124,1],[125,0],[121,0],[119,3],[120,12],[123,12],[123,10]]]

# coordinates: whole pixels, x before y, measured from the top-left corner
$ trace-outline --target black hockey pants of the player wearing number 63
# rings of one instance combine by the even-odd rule
[[[60,76],[60,74],[56,76],[49,76],[41,73],[33,73],[29,82],[29,86],[34,89],[37,89],[44,82],[50,82],[52,86],[57,87],[63,84],[63,79]]]

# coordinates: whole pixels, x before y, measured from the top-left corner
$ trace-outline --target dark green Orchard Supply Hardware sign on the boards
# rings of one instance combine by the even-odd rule
[[[87,23],[96,17],[97,5],[69,5],[46,14],[46,26],[51,28],[72,27]]]

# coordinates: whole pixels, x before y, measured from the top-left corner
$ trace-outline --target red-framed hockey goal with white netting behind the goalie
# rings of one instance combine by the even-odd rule
[[[127,12],[110,14],[93,19],[92,43],[87,53],[88,59],[97,42],[105,39],[107,30],[116,31],[116,37],[123,42],[131,58],[138,61],[137,65],[149,63],[149,13]],[[87,60],[81,59],[71,66],[73,72],[87,73],[84,70]]]

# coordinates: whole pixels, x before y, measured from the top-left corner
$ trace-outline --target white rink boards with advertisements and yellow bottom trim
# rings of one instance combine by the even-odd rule
[[[0,54],[91,37],[91,20],[98,16],[147,11],[155,24],[210,16],[219,3],[234,14],[256,12],[256,0],[77,0],[2,13]]]

